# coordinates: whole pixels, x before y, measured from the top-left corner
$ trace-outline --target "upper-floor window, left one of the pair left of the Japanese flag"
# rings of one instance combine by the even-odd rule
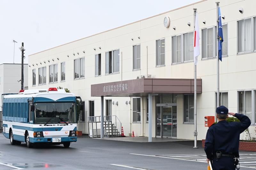
[[[172,63],[181,63],[181,35],[172,37]]]

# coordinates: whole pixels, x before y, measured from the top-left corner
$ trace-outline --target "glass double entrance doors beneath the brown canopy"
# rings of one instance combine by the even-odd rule
[[[162,103],[161,99],[162,97],[157,97],[156,137],[177,138],[177,103]],[[170,96],[170,99],[173,99],[173,96]],[[173,101],[176,102],[169,102]]]

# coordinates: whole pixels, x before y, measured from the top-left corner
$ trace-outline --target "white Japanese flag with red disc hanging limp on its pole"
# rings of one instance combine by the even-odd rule
[[[199,28],[198,28],[198,18],[196,12],[196,22],[195,22],[195,31],[194,31],[194,64],[197,64],[197,57],[200,55],[199,48]]]

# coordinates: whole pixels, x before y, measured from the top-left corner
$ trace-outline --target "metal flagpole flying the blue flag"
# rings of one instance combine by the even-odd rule
[[[219,31],[219,4],[220,2],[216,2],[217,4],[217,28],[216,28],[216,38],[217,38],[217,42],[219,42],[219,34],[218,34],[218,31]],[[216,44],[216,47],[217,47],[217,44]],[[219,71],[219,52],[217,54],[217,107],[220,106],[220,71]],[[216,115],[216,112],[215,112],[215,121],[217,121],[217,115]]]

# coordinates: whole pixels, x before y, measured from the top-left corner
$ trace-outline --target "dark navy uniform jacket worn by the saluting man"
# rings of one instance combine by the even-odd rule
[[[251,125],[251,120],[242,114],[235,114],[240,122],[227,122],[221,120],[213,124],[207,131],[205,138],[204,151],[208,159],[212,159],[212,154],[221,151],[223,154],[233,153],[239,156],[240,133]]]

